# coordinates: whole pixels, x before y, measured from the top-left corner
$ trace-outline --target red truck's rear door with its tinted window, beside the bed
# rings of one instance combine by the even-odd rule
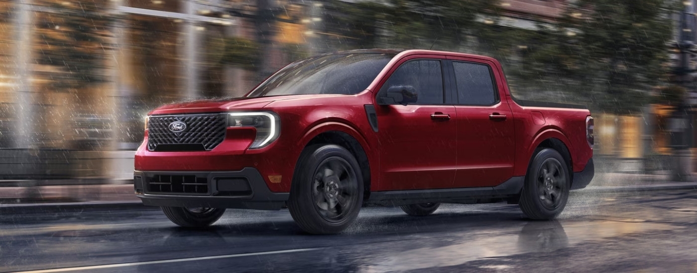
[[[457,113],[458,188],[495,186],[510,179],[514,163],[514,122],[500,75],[487,60],[448,61]]]

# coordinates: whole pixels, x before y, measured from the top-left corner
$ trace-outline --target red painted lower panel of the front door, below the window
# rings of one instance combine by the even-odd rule
[[[457,121],[434,121],[431,114],[455,117],[454,106],[381,106],[379,185],[375,190],[454,188]]]

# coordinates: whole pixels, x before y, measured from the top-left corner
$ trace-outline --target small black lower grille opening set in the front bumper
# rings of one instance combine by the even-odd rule
[[[156,174],[146,180],[146,193],[171,194],[185,193],[208,195],[208,179],[195,175]]]

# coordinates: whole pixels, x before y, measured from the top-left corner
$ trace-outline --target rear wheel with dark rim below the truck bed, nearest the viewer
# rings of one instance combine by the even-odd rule
[[[528,167],[519,206],[533,220],[554,219],[569,199],[568,165],[558,151],[537,148]]]

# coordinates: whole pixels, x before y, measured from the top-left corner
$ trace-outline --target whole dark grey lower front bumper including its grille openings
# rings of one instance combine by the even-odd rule
[[[278,210],[289,197],[287,192],[271,192],[253,167],[236,172],[135,171],[134,188],[146,206]]]

